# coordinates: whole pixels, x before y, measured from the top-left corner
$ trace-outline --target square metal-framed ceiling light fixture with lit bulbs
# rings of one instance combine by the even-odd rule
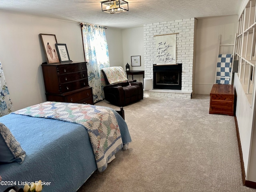
[[[120,13],[129,11],[128,2],[124,0],[108,0],[101,2],[101,9],[107,13]]]

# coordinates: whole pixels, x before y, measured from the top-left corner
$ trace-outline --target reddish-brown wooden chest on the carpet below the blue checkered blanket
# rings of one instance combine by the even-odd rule
[[[209,114],[226,114],[234,116],[233,85],[214,84],[210,92]]]

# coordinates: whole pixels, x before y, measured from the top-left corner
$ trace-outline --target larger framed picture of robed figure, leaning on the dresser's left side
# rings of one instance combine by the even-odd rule
[[[58,53],[55,48],[55,44],[57,43],[56,36],[54,34],[42,33],[39,35],[44,48],[47,64],[60,63]]]

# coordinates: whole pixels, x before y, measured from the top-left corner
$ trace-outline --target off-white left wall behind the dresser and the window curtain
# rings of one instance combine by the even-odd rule
[[[72,61],[84,61],[79,23],[0,11],[0,61],[15,110],[46,101],[39,34],[55,34]],[[122,31],[107,29],[110,66],[123,66]]]

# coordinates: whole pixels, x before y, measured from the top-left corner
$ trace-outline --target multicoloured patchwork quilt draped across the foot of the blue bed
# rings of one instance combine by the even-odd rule
[[[102,106],[63,102],[43,102],[13,114],[51,118],[81,124],[88,131],[99,172],[107,168],[108,161],[123,147],[118,122],[112,110]]]

